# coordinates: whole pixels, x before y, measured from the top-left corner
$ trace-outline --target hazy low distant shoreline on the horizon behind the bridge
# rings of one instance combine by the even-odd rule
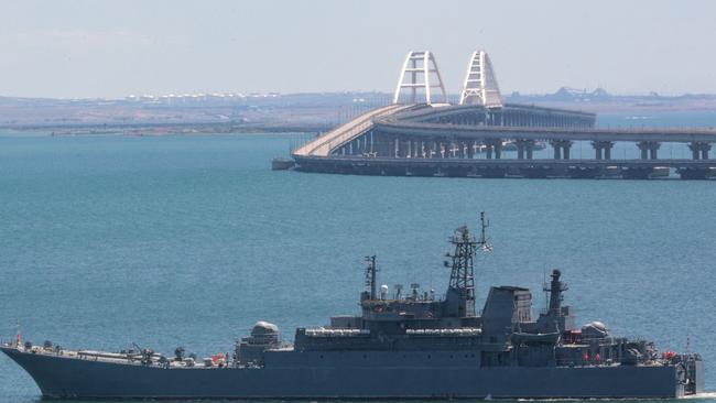
[[[456,101],[451,96],[451,101]],[[595,112],[598,116],[714,112],[716,95],[614,96],[562,88],[508,102]],[[327,92],[243,98],[40,99],[0,97],[0,130],[51,135],[165,135],[321,133],[391,102],[384,92]]]

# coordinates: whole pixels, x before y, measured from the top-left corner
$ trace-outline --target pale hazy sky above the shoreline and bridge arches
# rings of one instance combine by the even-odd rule
[[[716,92],[716,1],[0,0],[0,96],[392,91],[475,48],[503,92]]]

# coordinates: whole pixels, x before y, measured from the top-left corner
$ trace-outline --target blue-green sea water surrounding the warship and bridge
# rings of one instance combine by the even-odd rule
[[[601,119],[716,126],[713,112]],[[0,339],[207,357],[269,320],[291,341],[358,313],[366,255],[391,292],[442,294],[448,237],[485,211],[478,308],[491,285],[520,285],[538,312],[558,268],[578,324],[698,352],[716,391],[716,182],[271,171],[305,138],[0,132]],[[40,400],[0,357],[0,401]]]

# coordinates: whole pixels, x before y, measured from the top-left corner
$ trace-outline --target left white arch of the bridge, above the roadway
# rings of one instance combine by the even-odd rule
[[[433,88],[438,88],[442,94],[442,102],[447,104],[447,91],[443,85],[443,78],[437,70],[435,56],[430,51],[409,52],[400,70],[398,87],[393,95],[393,104],[402,104],[401,92],[403,89],[409,90],[409,100],[404,104],[419,104],[423,100],[425,104],[433,104]],[[424,92],[419,94],[419,90]]]

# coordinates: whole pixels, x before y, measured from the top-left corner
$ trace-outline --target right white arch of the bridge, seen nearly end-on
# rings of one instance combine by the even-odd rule
[[[473,52],[470,62],[467,64],[459,104],[481,105],[488,108],[502,107],[502,95],[487,52]]]

